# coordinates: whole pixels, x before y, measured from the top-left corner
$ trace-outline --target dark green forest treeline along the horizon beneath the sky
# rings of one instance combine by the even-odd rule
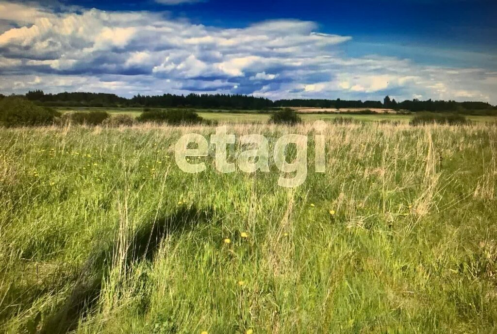
[[[4,95],[0,94],[0,98]],[[391,108],[407,111],[461,112],[497,114],[497,106],[487,102],[468,101],[420,101],[417,99],[397,102],[386,96],[382,101],[335,100],[331,99],[282,99],[271,101],[267,98],[229,94],[188,94],[184,95],[135,95],[125,98],[109,93],[63,92],[45,94],[42,90],[29,91],[21,95],[44,106],[66,107],[192,107],[206,109],[267,110],[277,107],[318,107],[318,108]]]

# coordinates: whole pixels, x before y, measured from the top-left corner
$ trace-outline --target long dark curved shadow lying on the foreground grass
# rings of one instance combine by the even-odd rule
[[[152,260],[166,236],[190,231],[198,224],[209,221],[210,217],[212,217],[210,210],[200,211],[195,206],[182,206],[172,215],[151,219],[150,223],[136,232],[128,247],[127,262]],[[102,245],[96,247],[96,251],[88,257],[71,294],[46,318],[38,333],[57,334],[74,331],[79,320],[91,312],[99,299],[102,281],[112,265],[111,251],[102,251],[102,248],[104,248]],[[112,249],[114,248],[110,248]]]

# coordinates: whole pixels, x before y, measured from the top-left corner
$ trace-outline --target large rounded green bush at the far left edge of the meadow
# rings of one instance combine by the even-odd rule
[[[60,112],[40,107],[19,97],[5,97],[0,101],[0,124],[6,127],[53,124]]]

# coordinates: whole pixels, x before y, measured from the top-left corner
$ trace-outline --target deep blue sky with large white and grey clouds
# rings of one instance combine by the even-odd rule
[[[495,0],[0,0],[0,92],[497,104],[496,17]]]

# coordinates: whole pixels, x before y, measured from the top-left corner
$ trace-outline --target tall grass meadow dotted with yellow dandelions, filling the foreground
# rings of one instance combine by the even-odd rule
[[[495,125],[329,125],[325,173],[312,123],[228,130],[309,134],[305,183],[184,173],[209,126],[1,129],[0,332],[496,330]]]

